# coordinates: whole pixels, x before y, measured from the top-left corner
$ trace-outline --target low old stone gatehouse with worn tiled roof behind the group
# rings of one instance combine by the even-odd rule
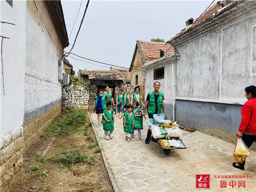
[[[131,73],[125,69],[116,69],[110,67],[111,70],[79,70],[78,77],[83,82],[90,82],[90,99],[89,108],[93,107],[94,98],[99,93],[99,90],[104,90],[108,85],[110,91],[113,93],[114,102],[116,101],[116,95],[122,88],[127,88],[128,93],[131,92],[129,87],[131,82]],[[132,88],[131,88],[132,89]]]

